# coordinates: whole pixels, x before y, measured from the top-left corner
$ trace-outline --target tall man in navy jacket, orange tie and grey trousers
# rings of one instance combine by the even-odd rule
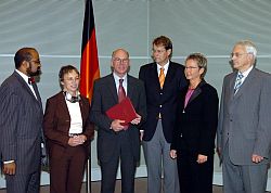
[[[177,164],[169,156],[177,95],[188,85],[184,67],[170,61],[171,40],[160,36],[153,41],[154,63],[140,68],[145,83],[147,119],[143,125],[143,150],[147,167],[147,192],[160,192],[162,163],[165,193],[179,193]]]

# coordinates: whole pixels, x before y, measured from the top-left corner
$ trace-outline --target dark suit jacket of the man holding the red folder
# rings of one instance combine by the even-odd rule
[[[136,112],[146,117],[145,90],[141,80],[127,75],[127,97],[130,98]],[[108,160],[117,145],[117,133],[111,128],[113,121],[105,112],[118,103],[117,89],[113,74],[98,79],[94,82],[94,92],[91,103],[90,118],[98,126],[98,158],[102,162]],[[122,132],[122,131],[120,131]],[[128,130],[130,147],[134,160],[140,158],[140,138],[138,126],[130,125]]]

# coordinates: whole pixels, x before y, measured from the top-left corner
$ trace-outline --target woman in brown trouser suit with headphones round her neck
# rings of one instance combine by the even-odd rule
[[[62,91],[47,100],[43,121],[50,192],[80,193],[94,126],[89,121],[89,100],[78,91],[77,68],[62,66],[59,77]]]

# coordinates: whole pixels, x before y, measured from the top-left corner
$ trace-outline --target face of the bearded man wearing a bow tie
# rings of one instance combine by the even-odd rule
[[[39,54],[36,51],[30,51],[31,53],[31,60],[28,61],[28,66],[26,68],[26,73],[28,76],[38,76],[41,74],[41,64]]]

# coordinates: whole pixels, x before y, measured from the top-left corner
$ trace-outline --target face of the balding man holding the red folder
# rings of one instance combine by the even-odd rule
[[[129,69],[130,60],[124,50],[117,50],[112,57],[111,65],[117,76],[124,77]]]

